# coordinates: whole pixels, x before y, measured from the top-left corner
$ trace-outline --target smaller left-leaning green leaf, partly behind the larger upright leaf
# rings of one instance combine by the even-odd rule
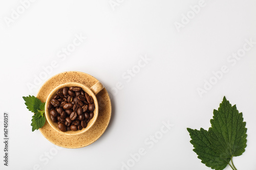
[[[187,128],[187,131],[192,139],[190,143],[193,144],[195,148],[193,151],[197,153],[202,163],[212,169],[218,170],[222,170],[228,165],[230,158],[221,158],[220,154],[214,151],[209,134],[206,130],[201,128],[200,131],[198,131]]]

